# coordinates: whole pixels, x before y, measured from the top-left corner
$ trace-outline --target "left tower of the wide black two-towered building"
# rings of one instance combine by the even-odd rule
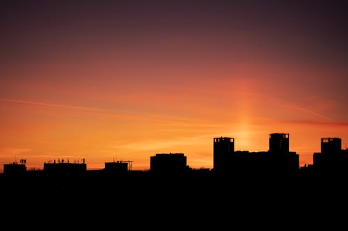
[[[235,152],[235,138],[214,138],[213,169],[221,172],[225,169],[228,157]]]

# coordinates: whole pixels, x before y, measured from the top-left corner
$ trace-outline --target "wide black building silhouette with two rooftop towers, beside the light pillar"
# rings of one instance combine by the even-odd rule
[[[236,179],[296,176],[299,155],[289,151],[288,133],[271,133],[269,151],[234,151],[234,138],[214,138],[214,173]]]

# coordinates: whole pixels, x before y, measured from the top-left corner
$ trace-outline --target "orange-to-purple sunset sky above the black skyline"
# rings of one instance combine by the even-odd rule
[[[300,166],[322,137],[348,148],[348,1],[1,1],[0,172],[26,159],[103,169],[214,137]]]

